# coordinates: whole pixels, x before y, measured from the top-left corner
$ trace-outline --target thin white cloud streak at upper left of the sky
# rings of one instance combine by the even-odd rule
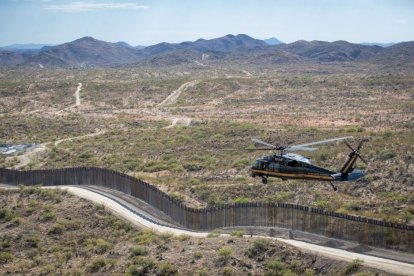
[[[46,10],[62,11],[62,12],[83,12],[102,9],[148,9],[148,6],[134,3],[88,3],[88,2],[72,2],[61,5],[47,5]]]

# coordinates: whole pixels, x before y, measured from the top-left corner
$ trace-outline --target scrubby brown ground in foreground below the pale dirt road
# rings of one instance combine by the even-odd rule
[[[65,191],[0,190],[0,274],[382,275],[277,241],[156,234]]]

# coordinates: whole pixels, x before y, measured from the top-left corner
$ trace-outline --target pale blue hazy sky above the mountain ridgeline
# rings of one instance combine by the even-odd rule
[[[414,40],[413,0],[0,0],[0,46],[92,36],[131,45],[227,34],[254,38]]]

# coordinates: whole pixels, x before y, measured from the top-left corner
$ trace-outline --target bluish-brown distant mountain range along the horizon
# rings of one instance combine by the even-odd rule
[[[12,45],[13,46],[13,45]],[[0,66],[113,67],[125,65],[213,65],[217,62],[278,64],[297,62],[369,62],[382,65],[414,65],[414,42],[389,47],[346,41],[259,40],[245,34],[182,43],[142,47],[126,42],[110,43],[83,37],[61,45],[20,45],[0,49]],[[30,49],[30,47],[34,47]]]

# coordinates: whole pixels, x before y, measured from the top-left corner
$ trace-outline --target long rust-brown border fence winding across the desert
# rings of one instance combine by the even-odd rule
[[[151,184],[109,169],[79,167],[18,171],[0,168],[0,183],[102,186],[139,198],[191,230],[235,226],[284,227],[414,253],[412,225],[287,203],[231,203],[196,209],[186,206]]]

